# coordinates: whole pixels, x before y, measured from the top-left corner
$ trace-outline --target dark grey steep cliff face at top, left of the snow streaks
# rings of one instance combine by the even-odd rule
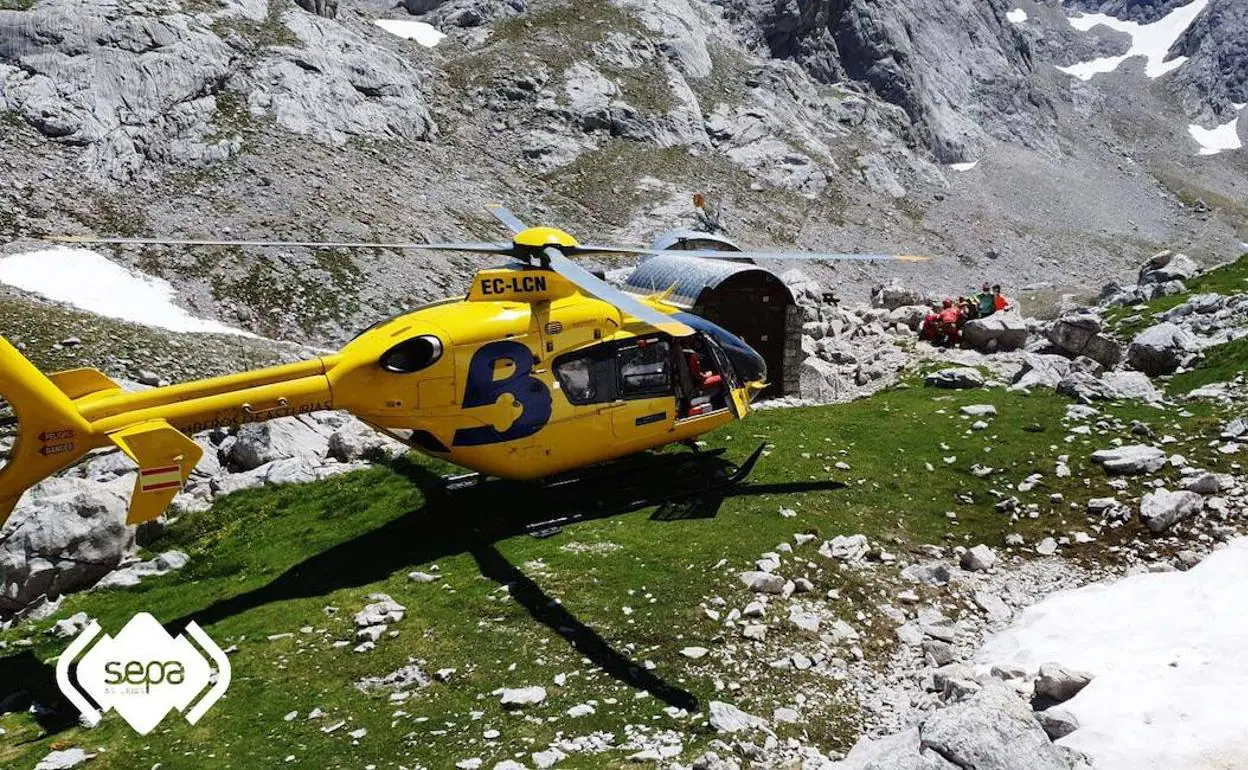
[[[900,106],[941,162],[981,157],[990,136],[1052,146],[1043,126],[1055,112],[1033,84],[1030,45],[996,6],[815,2],[797,14],[759,0],[725,5],[751,22],[773,56],[822,82],[866,84]]]

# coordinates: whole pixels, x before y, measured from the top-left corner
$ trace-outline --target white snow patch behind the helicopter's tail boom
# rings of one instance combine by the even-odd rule
[[[145,276],[85,248],[57,246],[0,257],[0,283],[72,305],[97,316],[171,332],[255,337],[173,305],[167,281]]]

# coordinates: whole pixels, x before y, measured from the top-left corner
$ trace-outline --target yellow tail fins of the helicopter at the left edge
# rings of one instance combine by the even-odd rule
[[[95,434],[80,407],[120,389],[96,369],[44,374],[0,337],[0,525],[26,489],[107,441],[140,468],[127,522],[161,514],[203,451],[163,419]]]

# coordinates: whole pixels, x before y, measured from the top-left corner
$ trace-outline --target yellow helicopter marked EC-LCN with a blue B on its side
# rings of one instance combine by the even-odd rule
[[[104,373],[42,374],[0,337],[0,525],[21,494],[102,447],[137,465],[129,523],[158,517],[203,451],[190,438],[277,417],[344,409],[413,448],[482,474],[542,479],[691,442],[740,419],[766,382],[763,357],[726,329],[620,292],[573,262],[655,250],[583,246],[490,212],[509,243],[313,243],[65,236],[72,243],[403,248],[499,255],[467,296],[382,321],[312,361],[122,392]],[[661,252],[723,257],[719,251]],[[897,260],[734,252],[734,258]],[[7,408],[5,408],[7,401]],[[5,447],[7,444],[7,462]],[[758,453],[751,458],[758,458]]]

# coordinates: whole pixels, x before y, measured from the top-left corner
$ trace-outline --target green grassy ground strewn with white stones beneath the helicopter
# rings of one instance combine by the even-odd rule
[[[993,403],[1001,417],[988,431],[970,433],[970,421],[958,416],[967,403]],[[92,764],[100,769],[156,763],[268,768],[285,766],[288,755],[296,756],[291,766],[310,768],[448,768],[469,756],[482,756],[488,768],[543,749],[558,733],[608,730],[623,740],[626,724],[681,731],[688,761],[711,738],[704,723],[665,714],[660,698],[635,699],[634,684],[676,703],[684,703],[686,693],[701,708],[723,699],[760,714],[787,704],[795,685],[817,683],[836,694],[835,683],[815,680],[814,674],[774,673],[763,663],[756,676],[739,681],[739,691],[716,691],[716,679],[733,680],[730,668],[714,663],[728,631],[706,619],[699,604],[719,595],[728,599],[725,610],[744,605],[749,597],[735,574],[778,543],[791,543],[794,533],[830,538],[861,532],[894,553],[922,543],[987,542],[1000,548],[1010,527],[993,509],[991,490],[1011,489],[1031,473],[1046,474],[1048,485],[1013,493],[1042,512],[1020,523],[1028,542],[1087,529],[1082,510],[1051,504],[1048,495],[1062,492],[1082,502],[1107,494],[1104,474],[1086,458],[1116,436],[1132,441],[1124,428],[1131,419],[1151,422],[1158,433],[1189,436],[1171,448],[1194,463],[1224,469],[1229,462],[1207,446],[1218,429],[1212,407],[1193,407],[1183,433],[1179,418],[1168,413],[1138,404],[1107,407],[1117,427],[1067,443],[1061,424],[1067,403],[1051,393],[906,387],[851,404],[759,413],[709,437],[711,447],[726,448],[738,461],[758,443],[770,444],[750,484],[724,499],[715,518],[650,520],[650,510],[639,510],[579,523],[549,539],[515,534],[517,524],[572,512],[568,498],[502,482],[447,497],[427,493],[437,488],[436,474],[448,468],[423,459],[222,498],[210,512],[176,522],[158,544],[161,550],[191,554],[183,572],[136,589],[72,595],[59,616],[85,610],[111,631],[140,610],[163,623],[196,619],[221,645],[238,648],[226,698],[198,725],[171,715],[145,738],[116,715],[91,731],[70,728],[55,734],[44,734],[26,713],[2,715],[7,738],[0,766],[30,768],[56,741],[105,749]],[[951,448],[942,448],[942,441]],[[1052,477],[1056,454],[1072,456],[1073,478]],[[942,459],[953,456],[951,464]],[[852,469],[835,469],[840,461]],[[1002,473],[980,479],[968,472],[972,463]],[[651,480],[663,479],[670,482],[671,473]],[[600,484],[575,505],[583,509],[592,504],[587,500],[610,494]],[[781,507],[797,515],[781,518]],[[958,512],[956,524],[947,510]],[[1141,530],[1132,525],[1122,537],[1128,534]],[[1104,547],[1117,539],[1104,537],[1077,553],[1103,558]],[[871,659],[882,660],[891,634],[874,608],[896,590],[881,577],[894,573],[840,570],[815,555],[814,545],[805,548],[802,557],[816,567],[801,569],[804,559],[789,558],[782,572],[804,572],[820,593],[841,590],[850,600],[837,607],[866,635]],[[721,560],[725,564],[716,567]],[[441,583],[406,579],[407,572],[434,564],[444,575]],[[502,589],[508,584],[509,592]],[[407,618],[392,626],[398,635],[383,638],[364,655],[333,648],[334,640],[351,639],[351,615],[373,592],[408,608]],[[328,615],[326,607],[338,609]],[[625,614],[624,607],[634,612]],[[874,624],[861,623],[859,610]],[[17,680],[36,691],[50,686],[45,661],[64,648],[41,633],[50,623],[0,633],[0,641],[10,643],[0,649],[7,655],[0,656],[0,681]],[[560,628],[573,629],[578,644],[569,644]],[[267,640],[280,633],[295,635]],[[791,639],[787,634],[778,624],[769,639]],[[14,648],[21,638],[34,646]],[[690,644],[710,648],[710,658],[680,656]],[[457,673],[398,705],[384,694],[354,689],[357,679],[389,673],[409,658],[424,661],[429,673]],[[654,661],[653,671],[640,668],[645,660]],[[609,669],[619,669],[620,678]],[[569,675],[567,686],[552,684],[557,673]],[[498,686],[529,684],[544,685],[549,696],[523,714],[503,713],[490,695]],[[589,699],[599,703],[595,715],[563,716]],[[313,708],[328,716],[308,721]],[[300,716],[286,723],[282,715],[288,711]],[[321,731],[337,719],[349,719],[348,726]],[[846,749],[856,735],[855,713],[844,699],[812,708],[805,719],[807,734],[825,750]],[[368,735],[352,745],[346,733],[359,726]],[[502,738],[485,741],[487,729],[500,730]],[[781,738],[794,734],[781,731]],[[560,766],[626,766],[625,755],[573,756]]]

